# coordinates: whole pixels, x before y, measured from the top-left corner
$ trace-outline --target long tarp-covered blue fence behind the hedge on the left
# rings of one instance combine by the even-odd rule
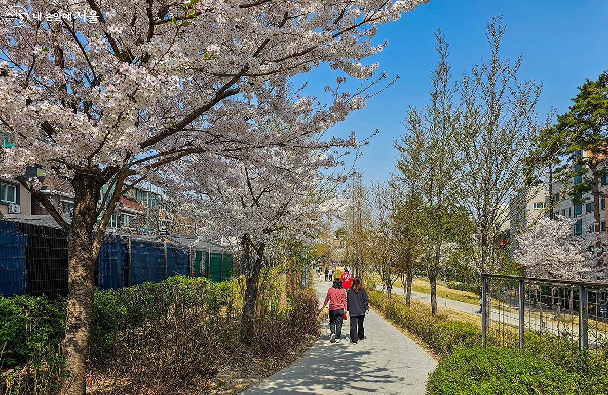
[[[95,282],[116,289],[170,276],[230,276],[232,254],[171,242],[105,235]],[[67,232],[61,228],[0,220],[0,295],[67,295]]]

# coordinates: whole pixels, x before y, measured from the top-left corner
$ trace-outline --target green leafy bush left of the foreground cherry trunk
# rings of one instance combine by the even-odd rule
[[[0,297],[0,368],[23,365],[43,351],[57,352],[65,306],[46,297]]]

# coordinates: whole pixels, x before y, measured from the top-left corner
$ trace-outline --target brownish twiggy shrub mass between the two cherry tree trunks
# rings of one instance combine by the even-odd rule
[[[240,317],[224,284],[172,278],[110,292],[112,365],[136,394],[173,394],[192,377],[213,376],[232,354]],[[124,320],[116,322],[116,317]],[[111,332],[103,332],[108,334]],[[103,343],[109,346],[109,343]]]

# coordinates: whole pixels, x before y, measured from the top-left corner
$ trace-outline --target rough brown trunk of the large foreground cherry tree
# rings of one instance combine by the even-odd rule
[[[83,395],[93,323],[95,258],[98,251],[92,249],[92,243],[100,184],[92,176],[77,174],[72,185],[75,205],[67,238],[69,292],[63,340],[66,368],[72,377],[64,379],[63,391],[68,395]]]

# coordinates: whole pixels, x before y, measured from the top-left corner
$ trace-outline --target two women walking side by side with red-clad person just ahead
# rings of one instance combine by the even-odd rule
[[[323,309],[328,303],[330,342],[340,343],[342,341],[342,324],[347,319],[347,312],[350,317],[350,342],[357,344],[359,340],[364,340],[363,322],[365,315],[370,312],[370,298],[365,292],[361,277],[353,277],[348,267],[345,267],[344,273],[340,278],[334,278],[333,284],[328,289]]]

